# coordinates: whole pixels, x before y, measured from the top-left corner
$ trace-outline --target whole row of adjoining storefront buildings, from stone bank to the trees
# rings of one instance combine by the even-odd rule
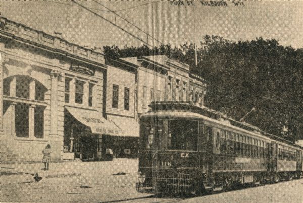
[[[206,82],[167,56],[105,57],[0,18],[1,162],[136,157],[152,101],[204,105]]]

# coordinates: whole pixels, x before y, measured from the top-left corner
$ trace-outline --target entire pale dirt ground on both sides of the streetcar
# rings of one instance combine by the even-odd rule
[[[1,202],[303,202],[303,179],[186,199],[156,198],[135,190],[138,160],[133,159],[51,163],[49,171],[41,170],[42,163],[1,167]],[[38,173],[42,180],[16,172]]]

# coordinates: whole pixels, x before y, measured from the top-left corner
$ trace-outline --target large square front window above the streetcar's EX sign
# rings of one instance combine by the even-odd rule
[[[189,151],[197,150],[198,121],[169,120],[168,131],[168,149]]]

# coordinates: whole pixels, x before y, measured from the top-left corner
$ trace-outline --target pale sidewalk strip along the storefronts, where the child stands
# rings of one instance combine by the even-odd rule
[[[97,174],[106,176],[119,172],[136,174],[137,162],[137,160],[130,159],[114,159],[113,161],[103,162],[82,162],[81,160],[75,160],[49,163],[48,171],[44,171],[43,163],[2,164],[0,166],[0,172],[1,179],[5,178],[5,176],[18,176],[18,178],[9,178],[10,180],[8,181],[20,183],[24,180],[33,181],[33,176],[29,173],[38,173],[38,176],[42,178],[71,177],[79,175],[94,176]]]

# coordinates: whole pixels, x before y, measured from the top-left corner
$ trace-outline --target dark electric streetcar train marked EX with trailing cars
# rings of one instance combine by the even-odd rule
[[[154,102],[140,117],[136,189],[198,193],[299,178],[303,148],[189,102]]]

